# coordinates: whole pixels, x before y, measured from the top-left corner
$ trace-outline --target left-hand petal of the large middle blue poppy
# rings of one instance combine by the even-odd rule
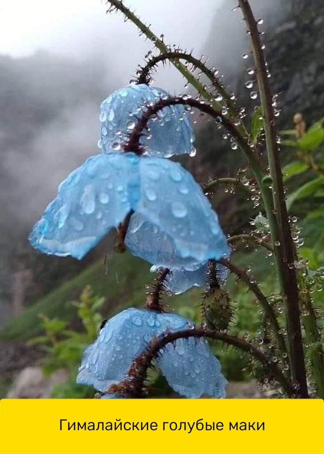
[[[87,159],[60,184],[30,233],[31,245],[47,254],[81,259],[136,203],[137,169],[133,153]]]

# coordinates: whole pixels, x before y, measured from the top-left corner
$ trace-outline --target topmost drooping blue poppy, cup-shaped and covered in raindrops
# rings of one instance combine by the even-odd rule
[[[133,131],[137,118],[149,105],[168,98],[160,88],[132,84],[115,91],[100,105],[101,138],[98,142],[104,153],[121,150]],[[195,153],[194,133],[190,115],[182,105],[170,106],[148,121],[149,134],[140,143],[149,156],[170,157],[174,154]],[[145,131],[144,131],[145,132]]]

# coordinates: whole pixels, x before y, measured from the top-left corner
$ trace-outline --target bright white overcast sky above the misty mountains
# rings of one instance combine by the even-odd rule
[[[170,44],[200,52],[221,0],[125,0]],[[231,9],[234,0],[229,1]],[[42,48],[74,58],[106,59],[109,74],[127,83],[137,63],[152,45],[137,37],[122,16],[106,15],[100,0],[16,0],[0,6],[0,53],[24,56]],[[198,33],[192,33],[198,30]],[[126,58],[125,58],[126,57]],[[120,79],[124,80],[120,80]],[[169,79],[168,74],[162,75]],[[114,80],[115,82],[115,80]],[[117,82],[117,80],[116,80]]]

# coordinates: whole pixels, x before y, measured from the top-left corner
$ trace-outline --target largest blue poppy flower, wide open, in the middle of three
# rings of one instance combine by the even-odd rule
[[[169,238],[176,256],[188,262],[218,260],[228,252],[217,215],[192,175],[179,163],[134,153],[100,154],[85,161],[60,184],[29,241],[47,254],[81,259],[131,210],[147,222],[151,243],[130,226],[126,244],[153,265],[167,266],[157,260],[158,231]]]

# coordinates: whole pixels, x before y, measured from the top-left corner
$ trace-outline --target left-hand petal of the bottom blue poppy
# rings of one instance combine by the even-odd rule
[[[77,383],[105,392],[123,380],[155,336],[156,312],[126,309],[107,321],[97,340],[83,353]]]

